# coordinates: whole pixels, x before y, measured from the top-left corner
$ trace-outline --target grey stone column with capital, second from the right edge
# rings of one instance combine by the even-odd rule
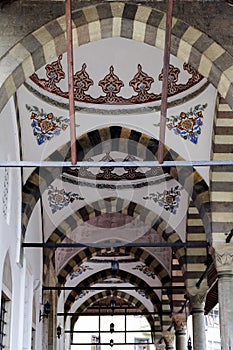
[[[204,306],[207,293],[206,281],[200,288],[188,288],[193,319],[193,348],[194,350],[206,349]]]

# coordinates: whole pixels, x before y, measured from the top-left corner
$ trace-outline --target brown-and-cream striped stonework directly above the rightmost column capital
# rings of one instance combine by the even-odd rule
[[[233,108],[223,98],[214,120],[213,159],[233,160]],[[225,241],[233,229],[233,166],[212,167],[210,179],[213,242]]]

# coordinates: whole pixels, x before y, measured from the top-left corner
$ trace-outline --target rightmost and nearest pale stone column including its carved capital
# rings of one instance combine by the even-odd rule
[[[215,264],[218,273],[218,301],[222,350],[233,349],[233,246],[230,243],[215,246]]]

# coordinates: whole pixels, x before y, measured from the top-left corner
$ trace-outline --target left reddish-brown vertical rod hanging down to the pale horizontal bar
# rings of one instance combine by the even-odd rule
[[[77,154],[76,154],[76,130],[75,130],[75,108],[74,108],[74,68],[73,68],[71,0],[66,0],[66,40],[67,40],[67,65],[68,65],[68,84],[69,84],[71,163],[72,165],[74,165],[77,163]]]

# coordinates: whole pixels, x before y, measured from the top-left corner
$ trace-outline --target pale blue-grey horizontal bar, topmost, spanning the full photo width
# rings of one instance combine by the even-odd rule
[[[233,160],[179,160],[179,161],[164,161],[160,164],[158,161],[134,161],[134,162],[77,162],[75,165],[71,162],[56,162],[56,161],[0,161],[0,167],[23,167],[23,168],[99,168],[99,167],[197,167],[197,166],[232,166]]]

